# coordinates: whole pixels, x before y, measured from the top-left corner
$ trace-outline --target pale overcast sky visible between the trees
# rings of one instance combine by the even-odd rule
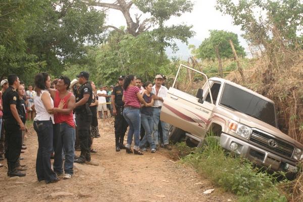
[[[239,26],[232,24],[232,18],[230,16],[223,16],[223,14],[216,10],[215,0],[191,0],[194,3],[193,10],[191,13],[185,13],[181,17],[172,17],[165,25],[178,25],[184,23],[186,25],[192,25],[192,30],[195,32],[195,36],[188,40],[188,44],[193,44],[196,47],[207,37],[209,37],[209,30],[225,30],[231,31],[238,34],[240,44],[248,52],[247,43],[240,36],[243,32],[240,30]],[[107,3],[112,3],[113,1],[103,1]],[[134,16],[138,13],[138,9],[134,6],[131,8],[131,14]],[[141,21],[147,18],[147,15],[142,15]],[[133,17],[133,19],[135,19]],[[126,26],[125,19],[120,11],[110,9],[108,10],[107,25],[114,25],[116,27]],[[190,51],[188,45],[176,41],[179,47],[177,53],[172,53],[171,49],[168,48],[166,53],[169,57],[182,58],[187,60],[190,56]],[[246,53],[248,54],[248,53]]]

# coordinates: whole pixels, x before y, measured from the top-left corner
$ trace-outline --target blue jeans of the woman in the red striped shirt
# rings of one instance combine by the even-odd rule
[[[140,110],[138,108],[129,108],[126,107],[123,110],[123,116],[126,122],[129,125],[129,130],[127,133],[127,143],[126,147],[130,148],[131,141],[134,136],[135,145],[134,149],[139,150],[140,144],[140,125],[141,125],[141,118],[140,118]]]

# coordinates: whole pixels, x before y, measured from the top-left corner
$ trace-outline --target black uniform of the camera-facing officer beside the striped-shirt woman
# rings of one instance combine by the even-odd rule
[[[124,102],[122,101],[123,97],[123,88],[121,86],[116,86],[113,89],[112,95],[115,95],[115,106],[117,110],[117,115],[115,116],[115,138],[116,138],[116,147],[119,146],[123,148],[124,135],[127,130],[128,124],[123,117]]]

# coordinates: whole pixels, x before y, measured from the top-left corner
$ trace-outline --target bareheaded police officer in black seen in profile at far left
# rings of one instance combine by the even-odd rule
[[[14,74],[8,77],[8,81],[10,86],[3,94],[3,121],[6,131],[5,157],[8,161],[8,176],[24,177],[25,173],[16,169],[22,147],[22,131],[25,130],[25,126],[18,113],[22,110],[20,109],[19,95],[16,91],[20,85],[20,80]]]

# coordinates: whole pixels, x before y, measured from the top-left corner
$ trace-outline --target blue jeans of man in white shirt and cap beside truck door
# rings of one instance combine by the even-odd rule
[[[160,113],[161,109],[154,108],[153,118],[154,118],[154,131],[153,131],[153,137],[155,144],[159,144],[159,132],[158,132],[158,125],[160,121]],[[161,122],[162,126],[162,133],[163,133],[163,144],[168,144],[168,130],[169,130],[169,124],[165,123],[163,121]]]

